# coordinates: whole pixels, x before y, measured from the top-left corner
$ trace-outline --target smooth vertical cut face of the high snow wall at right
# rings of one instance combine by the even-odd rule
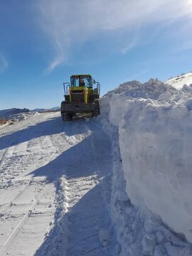
[[[192,242],[191,99],[126,99],[105,97],[100,105],[102,116],[119,127],[127,195]]]

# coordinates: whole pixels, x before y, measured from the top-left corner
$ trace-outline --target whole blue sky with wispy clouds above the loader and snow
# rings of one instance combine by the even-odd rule
[[[55,107],[70,75],[102,95],[192,70],[191,0],[1,0],[0,110]]]

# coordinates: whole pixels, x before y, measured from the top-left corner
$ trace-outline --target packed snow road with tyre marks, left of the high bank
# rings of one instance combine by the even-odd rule
[[[89,119],[46,113],[0,129],[0,255],[115,255],[111,165]]]

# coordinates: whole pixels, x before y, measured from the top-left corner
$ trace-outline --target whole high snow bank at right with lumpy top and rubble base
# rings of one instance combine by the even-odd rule
[[[114,145],[112,218],[121,255],[191,255],[171,232],[192,242],[191,87],[149,80],[133,97],[134,81],[124,85],[100,100],[100,123]]]

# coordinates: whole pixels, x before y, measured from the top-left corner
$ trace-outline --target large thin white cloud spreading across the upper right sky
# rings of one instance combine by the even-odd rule
[[[191,0],[40,0],[38,9],[41,28],[54,49],[48,72],[68,59],[71,46],[81,45],[98,32],[115,35],[122,29],[126,38],[122,53],[127,53],[140,40],[138,27],[192,18]]]

